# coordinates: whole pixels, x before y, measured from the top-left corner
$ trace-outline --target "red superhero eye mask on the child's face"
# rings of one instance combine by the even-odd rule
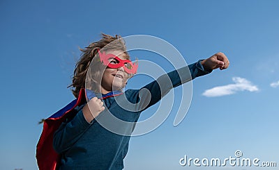
[[[103,65],[110,67],[111,69],[117,69],[119,67],[123,67],[124,71],[128,74],[136,74],[137,73],[137,62],[133,63],[131,60],[121,60],[117,56],[112,53],[102,53],[98,50],[100,56],[100,62],[103,62]],[[114,60],[110,60],[114,59]]]

